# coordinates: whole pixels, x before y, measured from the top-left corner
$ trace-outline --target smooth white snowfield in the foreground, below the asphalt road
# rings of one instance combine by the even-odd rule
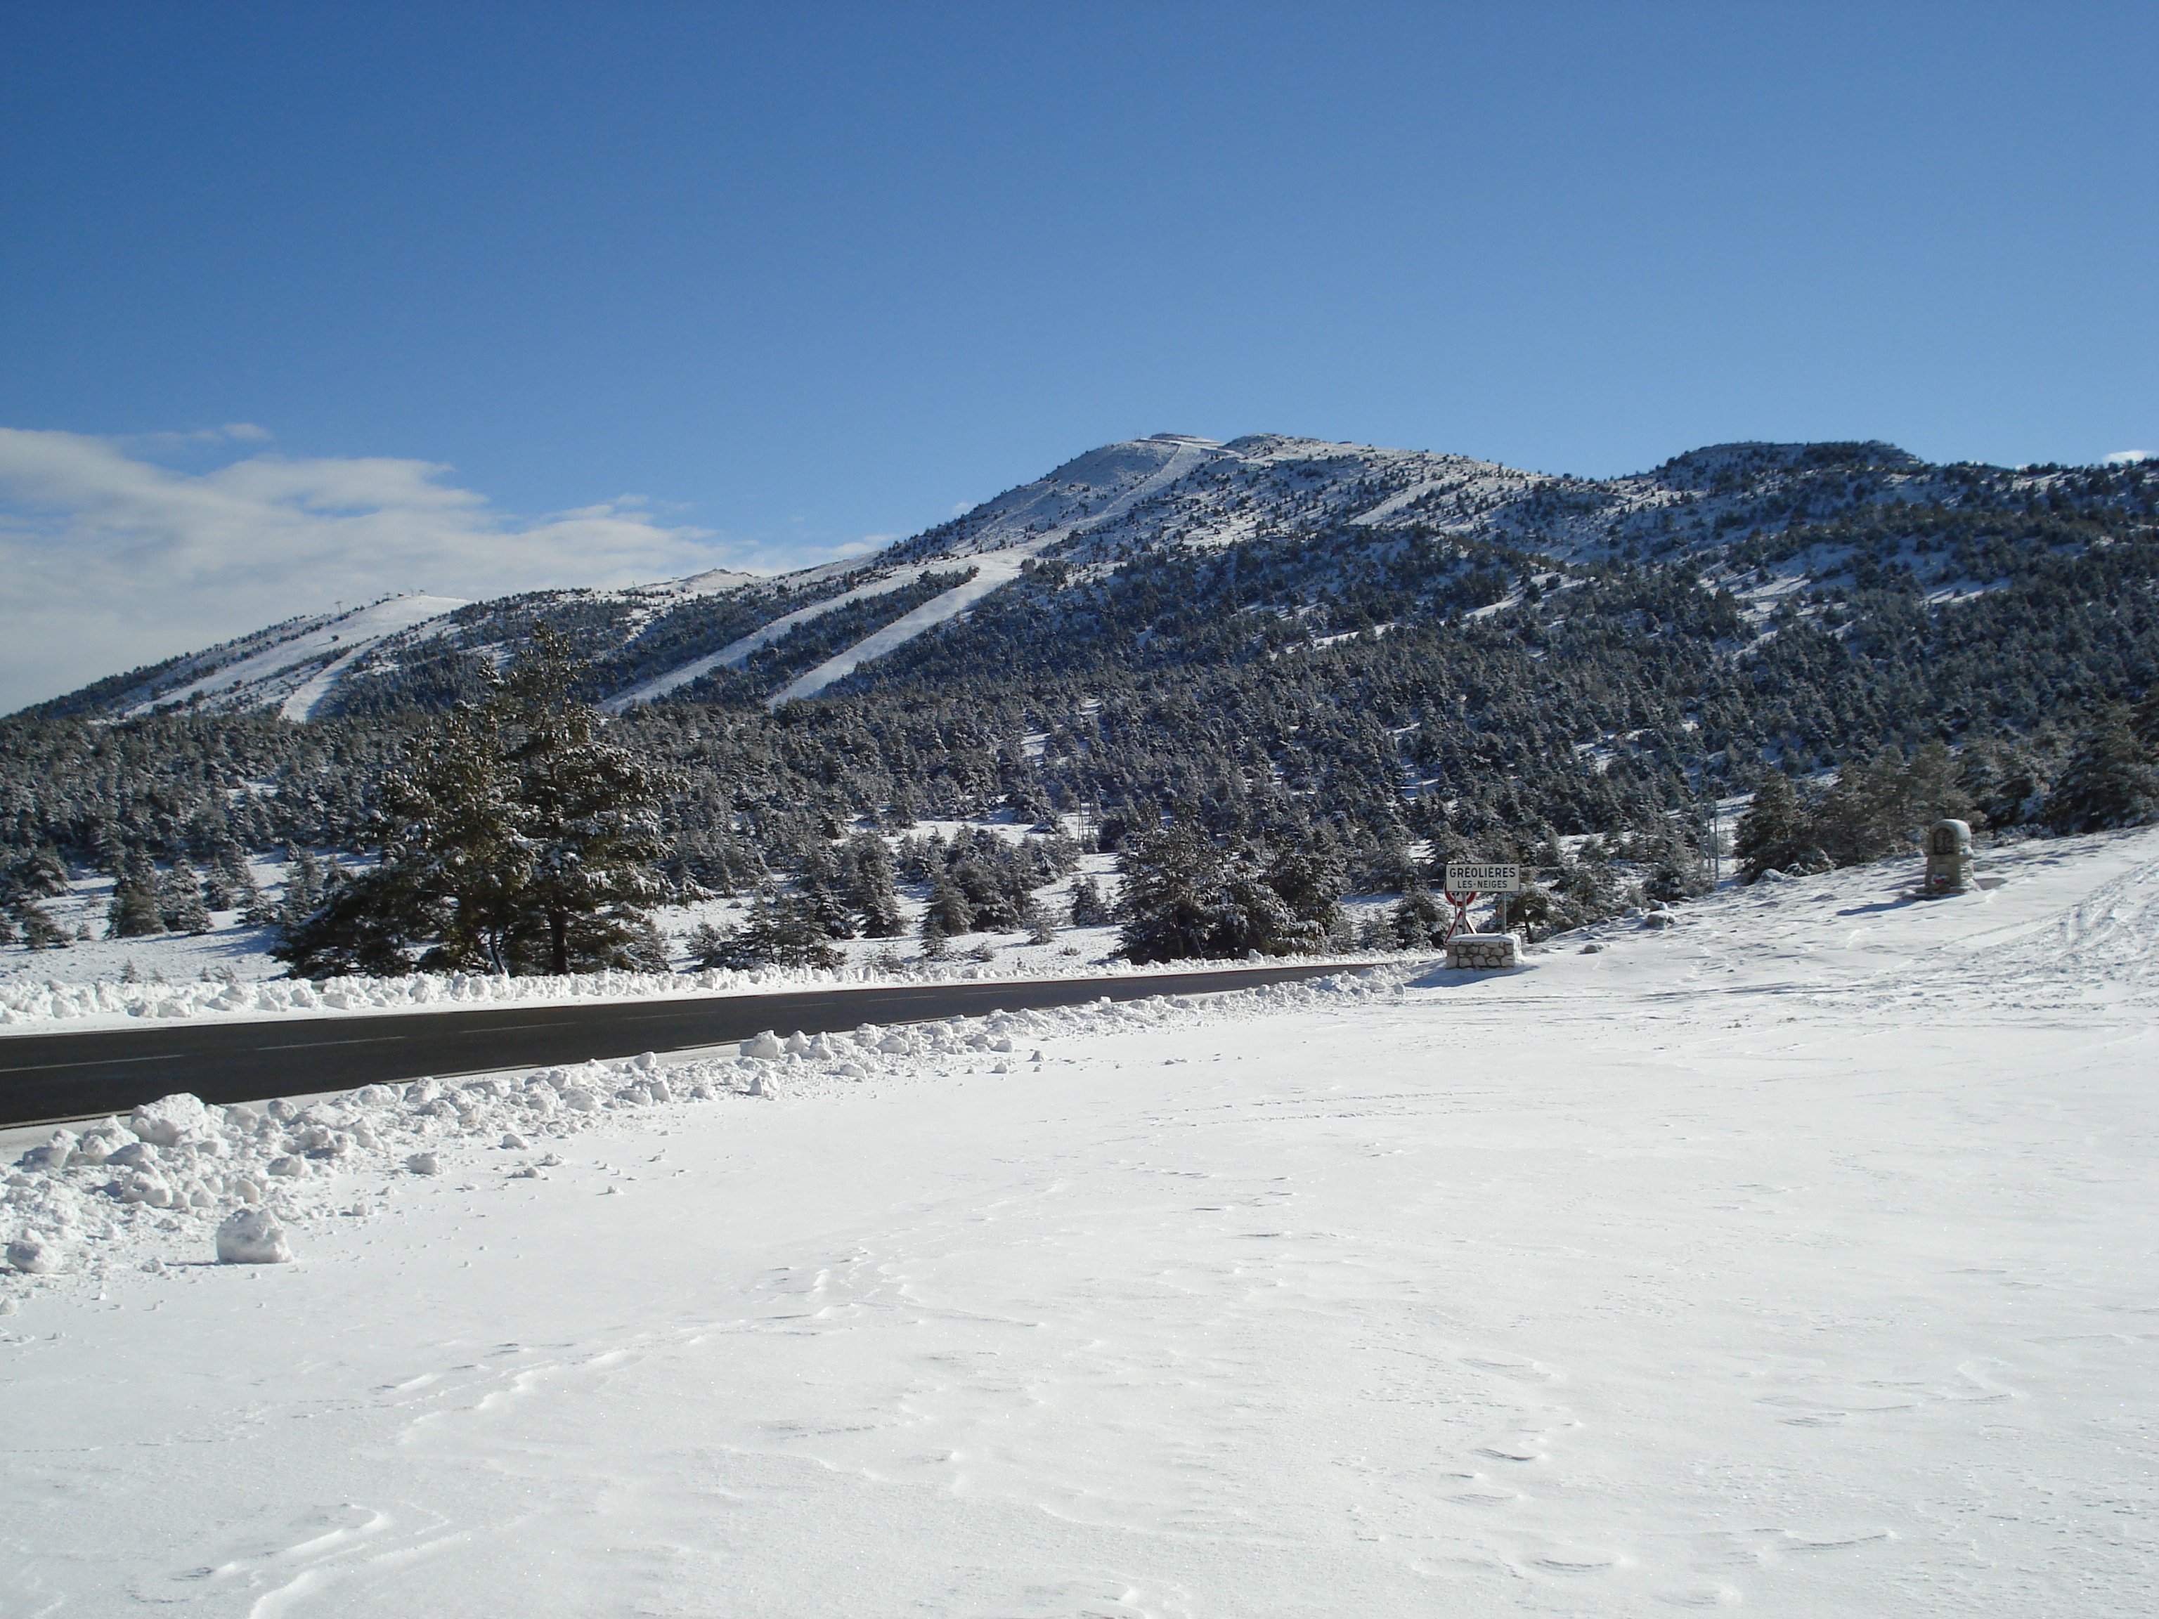
[[[17,1172],[0,1615],[2150,1613],[2159,833],[1991,863],[175,1110],[296,1261]]]

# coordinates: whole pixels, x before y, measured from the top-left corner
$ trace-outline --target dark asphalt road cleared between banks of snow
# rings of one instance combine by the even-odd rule
[[[125,1114],[192,1090],[203,1101],[266,1101],[423,1075],[570,1066],[639,1051],[687,1051],[762,1030],[825,1034],[861,1023],[926,1023],[993,1010],[1082,1006],[1101,997],[1205,995],[1343,967],[1235,967],[1205,974],[1062,978],[898,989],[805,989],[611,1006],[499,1006],[477,1012],[291,1017],[168,1023],[147,1030],[0,1036],[0,1127]]]

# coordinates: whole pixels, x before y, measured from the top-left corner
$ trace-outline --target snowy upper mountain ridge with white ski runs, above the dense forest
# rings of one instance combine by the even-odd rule
[[[175,704],[276,706],[309,719],[425,706],[471,686],[540,620],[576,637],[594,661],[596,695],[617,712],[674,695],[779,704],[859,671],[874,676],[900,648],[1047,566],[1060,581],[1086,583],[1250,542],[1304,540],[1367,559],[1390,540],[1436,542],[1434,566],[1485,568],[1494,579],[1684,559],[1706,579],[1723,570],[1723,583],[1766,615],[1844,557],[1816,553],[1783,572],[1725,568],[1747,540],[1880,507],[2034,505],[2088,477],[2083,468],[1932,466],[1872,440],[1712,445],[1649,473],[1583,479],[1282,434],[1231,443],[1155,434],[1092,449],[857,561],[497,602],[393,596],[274,624],[45,708],[119,719]],[[1969,594],[1986,581],[1947,585]],[[1492,600],[1509,596],[1501,589]],[[1056,661],[1054,632],[1038,652]]]

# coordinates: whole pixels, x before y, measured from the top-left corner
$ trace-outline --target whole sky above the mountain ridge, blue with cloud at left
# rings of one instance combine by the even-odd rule
[[[820,561],[1149,432],[2159,449],[2150,4],[4,22],[0,708],[330,598]]]

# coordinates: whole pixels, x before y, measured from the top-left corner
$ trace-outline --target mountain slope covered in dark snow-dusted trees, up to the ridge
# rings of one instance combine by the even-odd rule
[[[382,771],[533,624],[605,699],[820,602],[615,721],[678,768],[678,879],[801,870],[855,818],[1086,812],[1114,838],[1187,805],[1384,889],[1418,838],[1505,855],[1669,827],[1773,766],[1930,740],[2014,825],[2159,674],[2155,494],[2150,462],[1928,466],[1874,443],[1727,445],[1600,484],[1140,440],[844,570],[460,607],[384,639],[307,721],[145,710],[155,671],[101,682],[0,721],[0,857],[354,846]],[[771,706],[997,544],[1026,546],[1013,583]]]

